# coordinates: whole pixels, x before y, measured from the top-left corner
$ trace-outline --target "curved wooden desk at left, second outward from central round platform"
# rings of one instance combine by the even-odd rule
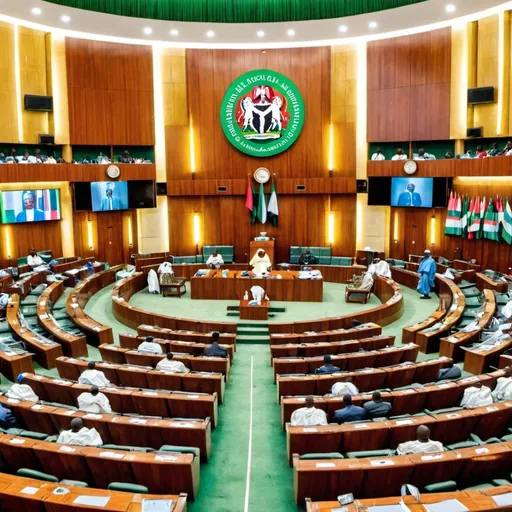
[[[85,335],[66,332],[59,326],[51,313],[50,304],[55,304],[64,292],[64,282],[56,281],[49,285],[37,299],[37,321],[39,325],[54,336],[62,345],[65,355],[72,357],[87,356],[87,339]]]

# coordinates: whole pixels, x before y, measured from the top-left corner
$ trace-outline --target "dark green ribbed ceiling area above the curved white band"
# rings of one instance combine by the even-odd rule
[[[426,0],[45,0],[88,11],[155,20],[273,23],[342,18]]]

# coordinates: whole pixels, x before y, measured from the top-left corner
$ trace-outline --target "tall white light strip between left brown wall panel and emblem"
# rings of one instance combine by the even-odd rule
[[[167,181],[165,157],[165,121],[162,78],[162,47],[153,46],[153,102],[155,113],[155,164],[157,181]]]

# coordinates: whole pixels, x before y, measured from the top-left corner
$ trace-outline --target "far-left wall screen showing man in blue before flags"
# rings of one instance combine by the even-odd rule
[[[60,190],[4,190],[1,195],[2,224],[60,220]]]

